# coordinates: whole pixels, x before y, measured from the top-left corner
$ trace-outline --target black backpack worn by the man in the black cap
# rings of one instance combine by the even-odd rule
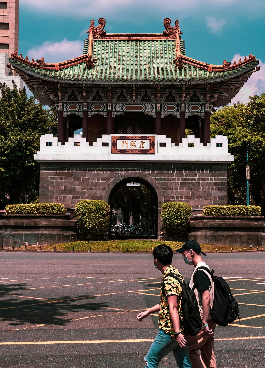
[[[210,271],[207,267],[198,267],[197,270],[207,271],[214,282],[214,303],[210,309],[214,322],[219,326],[227,326],[228,323],[234,322],[237,316],[238,322],[240,322],[239,305],[233,297],[228,283],[223,277],[214,276],[214,270]]]

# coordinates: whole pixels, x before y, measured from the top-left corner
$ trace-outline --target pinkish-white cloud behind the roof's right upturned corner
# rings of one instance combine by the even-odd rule
[[[240,58],[244,60],[244,56],[241,56],[240,54],[235,54],[231,61],[232,64],[233,60],[238,61]],[[265,64],[262,63],[261,60],[259,60],[259,66],[261,67],[260,70],[251,74],[250,78],[248,78],[244,86],[240,89],[237,95],[234,96],[231,104],[237,103],[237,101],[247,103],[249,102],[248,96],[259,96],[261,93],[265,92]]]

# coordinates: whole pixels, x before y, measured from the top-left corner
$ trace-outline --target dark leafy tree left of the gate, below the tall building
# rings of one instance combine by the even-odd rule
[[[25,87],[13,90],[0,83],[0,204],[30,202],[39,192],[39,164],[33,155],[39,150],[41,134],[57,135],[57,115],[44,109]]]

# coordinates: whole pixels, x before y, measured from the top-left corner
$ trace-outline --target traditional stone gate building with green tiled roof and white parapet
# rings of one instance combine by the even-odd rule
[[[153,188],[159,208],[227,204],[224,136],[210,139],[210,115],[244,85],[258,60],[207,64],[186,56],[178,21],[163,33],[111,33],[94,21],[83,55],[62,63],[11,55],[10,68],[43,105],[58,111],[58,138],[42,135],[40,202],[73,208],[80,199],[109,201],[129,178]],[[83,136],[74,135],[82,128]],[[186,128],[191,135],[186,137]]]

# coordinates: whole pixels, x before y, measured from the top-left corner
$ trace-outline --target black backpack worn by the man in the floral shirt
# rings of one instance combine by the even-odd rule
[[[198,307],[198,302],[194,291],[192,291],[188,284],[182,283],[180,278],[173,272],[169,272],[166,277],[174,277],[180,283],[182,287],[182,315],[183,321],[179,319],[179,322],[183,322],[183,328],[188,335],[195,336],[201,330],[201,315]],[[162,295],[166,297],[164,282],[161,282]]]

